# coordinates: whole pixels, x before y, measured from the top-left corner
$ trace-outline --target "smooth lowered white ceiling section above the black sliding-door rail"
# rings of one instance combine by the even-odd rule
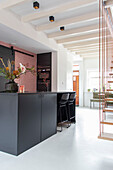
[[[20,34],[19,32],[14,31],[2,24],[0,24],[0,41],[12,44],[35,54],[53,51],[52,48],[48,48],[38,41],[33,41],[23,34]]]

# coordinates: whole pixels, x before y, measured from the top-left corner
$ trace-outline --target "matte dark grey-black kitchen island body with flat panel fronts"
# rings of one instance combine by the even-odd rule
[[[0,151],[19,155],[56,134],[59,95],[0,93]]]

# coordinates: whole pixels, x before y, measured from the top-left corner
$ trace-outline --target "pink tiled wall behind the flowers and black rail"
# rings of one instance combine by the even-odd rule
[[[9,44],[3,43],[3,42],[0,42],[0,45],[10,47]],[[14,47],[14,49],[17,49],[17,50],[20,50],[20,51],[34,55],[34,57],[31,57],[31,56],[28,56],[28,55],[25,55],[25,54],[22,54],[22,53],[19,53],[19,52],[15,52],[15,66],[16,66],[16,68],[19,66],[19,63],[22,63],[24,65],[27,64],[28,67],[34,66],[35,69],[36,69],[36,65],[37,65],[37,55],[36,54],[30,53],[30,52],[25,51],[23,49],[19,49],[17,47]],[[36,77],[37,77],[36,75],[33,75],[31,73],[27,73],[26,75],[22,75],[20,77],[20,79],[16,80],[16,82],[18,82],[19,85],[24,85],[25,91],[36,92],[36,88],[37,88],[36,87],[36,84],[37,84],[36,83],[36,81],[37,81]]]

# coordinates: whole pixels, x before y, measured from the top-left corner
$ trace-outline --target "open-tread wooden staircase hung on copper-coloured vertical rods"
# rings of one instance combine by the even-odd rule
[[[110,48],[110,43],[113,46],[113,30],[110,29],[113,22],[110,12],[104,0],[99,0],[99,92],[103,93],[104,102],[99,108],[98,138],[113,141],[113,48]]]

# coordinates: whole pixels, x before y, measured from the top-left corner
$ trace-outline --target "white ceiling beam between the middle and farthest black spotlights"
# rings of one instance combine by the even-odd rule
[[[73,18],[63,19],[63,20],[60,20],[60,21],[56,21],[54,23],[36,26],[36,30],[37,31],[44,31],[44,30],[49,30],[49,29],[53,29],[53,28],[56,28],[56,27],[65,26],[65,25],[69,25],[69,24],[73,24],[73,23],[95,20],[95,19],[98,19],[98,18],[99,18],[98,12],[94,12],[94,13],[91,13],[90,15],[86,14],[86,15],[77,16],[77,17],[73,17]]]

